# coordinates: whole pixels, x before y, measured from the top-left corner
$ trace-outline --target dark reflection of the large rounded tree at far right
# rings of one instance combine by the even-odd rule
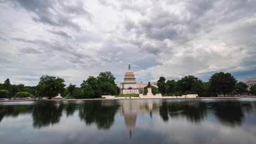
[[[243,111],[240,101],[220,101],[214,103],[215,115],[219,121],[232,127],[241,125]]]

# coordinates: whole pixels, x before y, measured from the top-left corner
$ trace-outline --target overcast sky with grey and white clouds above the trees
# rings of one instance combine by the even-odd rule
[[[0,0],[0,82],[256,77],[255,0]]]

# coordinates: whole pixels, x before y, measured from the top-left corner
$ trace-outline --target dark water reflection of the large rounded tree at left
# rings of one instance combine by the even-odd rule
[[[40,128],[60,122],[63,104],[60,101],[42,101],[34,104],[33,127]]]

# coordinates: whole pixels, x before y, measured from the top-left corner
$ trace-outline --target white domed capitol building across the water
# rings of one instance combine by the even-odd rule
[[[151,83],[151,85],[156,88],[158,87],[156,83]],[[143,89],[148,86],[148,83],[137,83],[129,64],[128,70],[125,73],[124,82],[117,83],[117,86],[121,89],[120,94],[139,94],[143,93]]]

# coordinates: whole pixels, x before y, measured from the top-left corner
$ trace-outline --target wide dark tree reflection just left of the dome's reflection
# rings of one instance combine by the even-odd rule
[[[79,109],[79,117],[87,125],[96,123],[99,129],[109,129],[114,123],[114,116],[118,110],[116,101],[104,105],[107,101],[86,101]]]

